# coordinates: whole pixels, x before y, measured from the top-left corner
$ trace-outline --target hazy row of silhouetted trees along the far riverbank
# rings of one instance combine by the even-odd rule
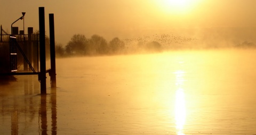
[[[99,35],[92,35],[86,38],[84,35],[75,34],[71,37],[66,46],[61,44],[55,45],[57,57],[63,56],[92,56],[92,55],[115,55],[129,53],[129,45],[125,41],[115,37],[109,42]],[[148,43],[137,43],[137,50],[161,51],[162,46],[157,41]]]

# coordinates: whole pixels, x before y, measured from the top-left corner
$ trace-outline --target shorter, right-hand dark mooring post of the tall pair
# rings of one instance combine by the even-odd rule
[[[55,65],[55,36],[54,36],[54,14],[49,14],[50,28],[50,55],[51,55],[51,88],[56,88],[56,65]]]

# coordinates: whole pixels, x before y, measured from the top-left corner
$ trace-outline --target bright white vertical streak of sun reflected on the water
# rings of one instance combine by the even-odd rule
[[[186,101],[185,101],[185,92],[182,88],[183,82],[185,79],[183,78],[185,72],[182,70],[178,70],[174,72],[176,75],[176,94],[175,94],[175,124],[177,129],[177,134],[181,135],[183,133],[183,128],[186,122]]]

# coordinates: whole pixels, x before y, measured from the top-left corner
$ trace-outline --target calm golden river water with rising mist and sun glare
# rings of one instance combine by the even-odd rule
[[[256,134],[256,50],[57,59],[0,86],[0,134]]]

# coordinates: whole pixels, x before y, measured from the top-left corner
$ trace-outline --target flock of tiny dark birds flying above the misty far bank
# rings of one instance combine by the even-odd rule
[[[196,38],[187,38],[183,36],[174,36],[168,35],[168,34],[162,34],[158,35],[155,34],[153,36],[144,36],[144,37],[139,37],[139,38],[131,38],[131,39],[123,39],[124,43],[126,45],[137,45],[137,44],[147,44],[150,43],[151,41],[157,41],[159,44],[163,46],[171,46],[174,44],[185,44],[188,42],[195,42],[197,39]]]

